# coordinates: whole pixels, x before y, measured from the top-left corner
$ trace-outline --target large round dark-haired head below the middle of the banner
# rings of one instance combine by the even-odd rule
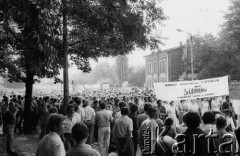
[[[200,117],[197,112],[188,112],[186,114],[186,125],[190,129],[198,128],[200,125]]]

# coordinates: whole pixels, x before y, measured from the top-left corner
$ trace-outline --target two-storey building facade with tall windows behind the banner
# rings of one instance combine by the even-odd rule
[[[182,56],[184,50],[185,47],[180,45],[145,56],[145,87],[152,89],[154,82],[179,81],[183,73]]]

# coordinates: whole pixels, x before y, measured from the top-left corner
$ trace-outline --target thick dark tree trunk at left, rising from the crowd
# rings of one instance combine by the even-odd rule
[[[29,134],[32,132],[32,114],[31,114],[31,103],[32,103],[32,90],[33,90],[33,77],[34,74],[27,70],[26,71],[26,94],[25,94],[25,106],[24,106],[24,124],[23,132]]]

